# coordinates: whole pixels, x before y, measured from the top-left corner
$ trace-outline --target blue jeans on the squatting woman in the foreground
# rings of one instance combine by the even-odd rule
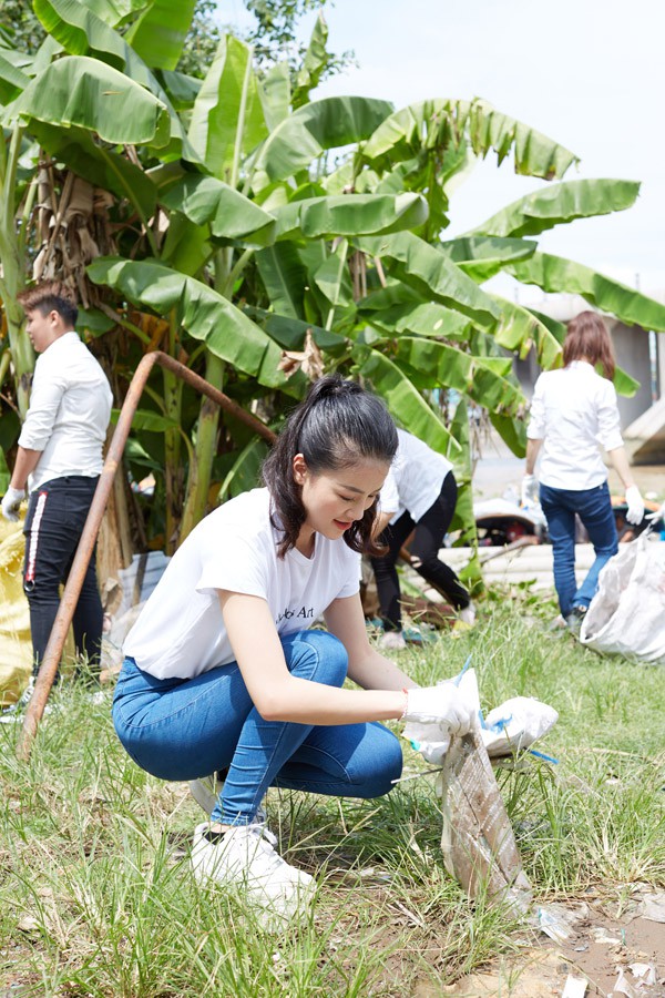
[[[347,653],[325,631],[282,639],[294,676],[341,686]],[[194,780],[228,767],[211,817],[249,824],[268,786],[378,797],[401,773],[398,739],[383,725],[315,726],[265,721],[237,662],[194,679],[155,679],[125,659],[113,699],[117,736],[134,762],[162,780]]]

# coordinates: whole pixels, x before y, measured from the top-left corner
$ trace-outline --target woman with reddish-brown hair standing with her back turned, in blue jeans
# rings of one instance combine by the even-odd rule
[[[598,366],[603,377],[595,370]],[[534,470],[541,455],[540,501],[553,546],[554,587],[561,614],[573,631],[597,590],[601,569],[618,550],[601,447],[625,488],[626,519],[641,523],[644,517],[621,436],[614,369],[605,323],[594,312],[582,312],[569,325],[563,367],[541,374],[531,401],[522,501],[539,496]],[[581,585],[575,579],[575,513],[596,556]]]

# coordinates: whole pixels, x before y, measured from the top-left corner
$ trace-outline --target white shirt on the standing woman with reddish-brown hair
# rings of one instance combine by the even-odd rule
[[[623,446],[616,391],[585,360],[535,383],[526,436],[542,440],[539,479],[553,489],[593,489],[607,479],[600,447]]]

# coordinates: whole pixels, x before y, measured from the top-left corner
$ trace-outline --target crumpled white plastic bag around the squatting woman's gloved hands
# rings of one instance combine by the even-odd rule
[[[471,704],[488,755],[493,758],[528,748],[538,739],[542,739],[559,720],[554,707],[532,696],[513,696],[483,717],[475,670],[469,669],[468,663],[458,676],[444,682],[452,682],[459,686],[464,699]],[[450,732],[447,725],[410,721],[405,725],[403,737],[411,742],[426,762],[436,766],[442,764],[450,747]]]

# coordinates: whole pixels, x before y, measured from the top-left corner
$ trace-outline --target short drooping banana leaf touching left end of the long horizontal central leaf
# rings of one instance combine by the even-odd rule
[[[273,215],[214,176],[186,174],[160,201],[196,225],[209,225],[215,240],[238,240],[257,248],[275,241]]]

